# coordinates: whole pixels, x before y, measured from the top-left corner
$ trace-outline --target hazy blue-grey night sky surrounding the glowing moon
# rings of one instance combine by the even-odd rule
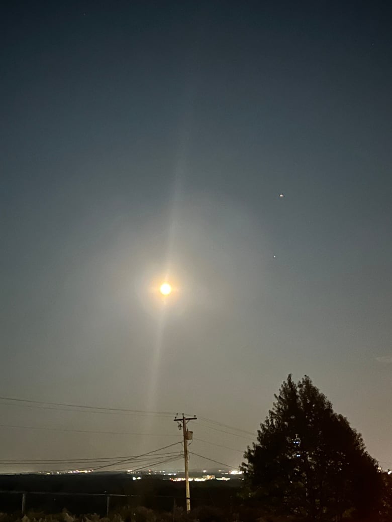
[[[390,11],[3,7],[0,395],[142,412],[0,399],[2,459],[255,432],[293,373],[392,466]],[[254,437],[205,419],[238,466]]]

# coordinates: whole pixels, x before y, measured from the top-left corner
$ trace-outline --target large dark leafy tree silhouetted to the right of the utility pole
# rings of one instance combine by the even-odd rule
[[[375,514],[380,473],[348,420],[308,376],[296,384],[289,375],[275,399],[244,455],[249,495],[275,513],[309,520]]]

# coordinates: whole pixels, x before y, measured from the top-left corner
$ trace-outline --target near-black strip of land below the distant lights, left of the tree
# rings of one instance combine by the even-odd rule
[[[191,482],[192,507],[234,509],[240,485],[240,479]],[[105,516],[125,506],[170,512],[185,507],[185,483],[156,476],[133,480],[126,473],[20,474],[0,476],[0,511],[21,512],[23,493],[24,512],[59,513],[65,508],[75,515]]]

